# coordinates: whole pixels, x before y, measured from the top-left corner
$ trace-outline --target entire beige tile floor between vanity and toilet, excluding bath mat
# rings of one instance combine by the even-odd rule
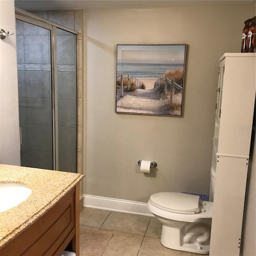
[[[81,230],[114,233],[102,256],[203,256],[162,246],[161,228],[155,217],[86,207],[80,212]]]

